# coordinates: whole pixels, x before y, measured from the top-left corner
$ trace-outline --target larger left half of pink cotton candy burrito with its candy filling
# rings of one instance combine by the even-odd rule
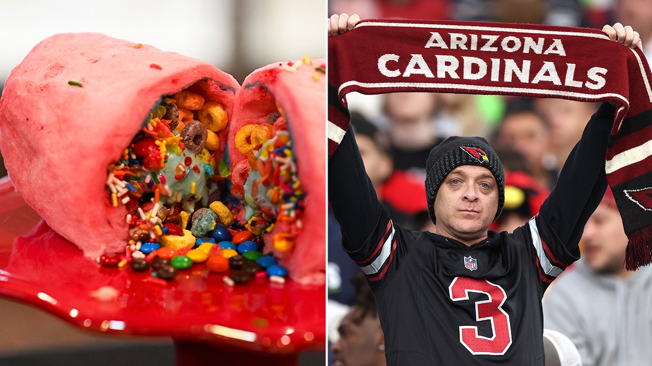
[[[25,202],[96,259],[124,252],[134,223],[157,216],[129,195],[155,201],[158,189],[166,214],[207,203],[238,91],[229,74],[177,53],[100,34],[55,35],[5,83],[0,149]],[[182,169],[184,182],[174,178]],[[158,221],[146,222],[160,229]]]

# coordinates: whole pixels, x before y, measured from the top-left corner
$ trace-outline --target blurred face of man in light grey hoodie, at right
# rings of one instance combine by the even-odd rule
[[[627,235],[617,209],[600,204],[584,227],[582,257],[596,272],[618,274],[625,262]]]

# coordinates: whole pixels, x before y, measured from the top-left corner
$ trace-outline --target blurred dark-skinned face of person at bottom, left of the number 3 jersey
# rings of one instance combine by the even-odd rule
[[[359,317],[359,309],[353,308],[340,323],[340,339],[333,343],[333,366],[384,365],[385,352],[379,349],[383,344],[383,331],[378,317],[364,317],[360,324],[353,320]]]

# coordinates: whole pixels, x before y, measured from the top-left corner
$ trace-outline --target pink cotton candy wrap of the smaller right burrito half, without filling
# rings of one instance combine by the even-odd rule
[[[291,65],[291,66],[289,66]],[[273,249],[274,234],[286,229],[276,222],[265,234],[264,251],[274,251],[292,279],[302,283],[323,283],[326,266],[326,75],[324,59],[304,59],[292,63],[274,63],[252,72],[243,81],[235,100],[229,141],[246,124],[266,123],[267,115],[278,105],[285,113],[297,162],[299,179],[306,197],[305,209],[293,230],[294,246],[289,252]],[[229,145],[231,167],[246,157]]]

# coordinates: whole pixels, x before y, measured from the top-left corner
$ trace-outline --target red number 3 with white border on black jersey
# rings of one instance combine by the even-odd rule
[[[460,326],[460,342],[471,354],[505,354],[512,344],[509,315],[502,308],[507,298],[505,290],[484,279],[466,277],[455,277],[449,286],[452,301],[469,300],[469,292],[488,297],[475,302],[475,317],[478,321],[490,320],[493,335],[482,337],[478,335],[477,326]]]

